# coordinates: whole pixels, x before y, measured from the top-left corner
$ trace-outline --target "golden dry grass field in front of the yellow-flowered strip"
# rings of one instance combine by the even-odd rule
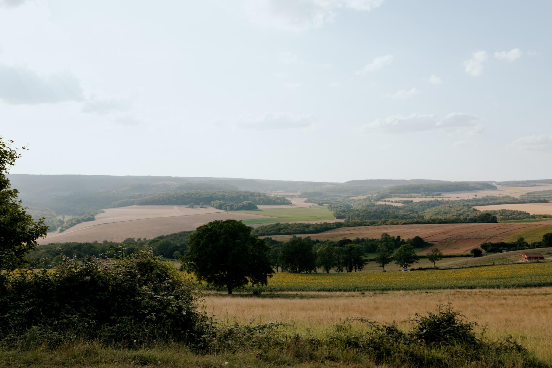
[[[252,297],[212,293],[206,310],[221,323],[264,323],[282,320],[298,332],[322,333],[347,317],[376,322],[404,322],[413,313],[434,311],[439,301],[453,303],[470,320],[487,327],[487,337],[511,334],[552,363],[552,287],[498,290],[431,290],[386,292],[283,292]]]

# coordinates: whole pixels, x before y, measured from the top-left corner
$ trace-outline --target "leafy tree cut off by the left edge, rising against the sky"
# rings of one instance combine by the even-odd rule
[[[26,213],[6,174],[21,155],[14,142],[0,137],[0,269],[13,270],[27,263],[26,254],[36,249],[36,239],[46,236],[44,219],[34,221]],[[23,149],[25,149],[23,147]]]

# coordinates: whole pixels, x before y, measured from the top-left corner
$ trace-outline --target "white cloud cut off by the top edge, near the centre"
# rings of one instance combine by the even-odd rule
[[[263,27],[301,31],[332,23],[335,10],[371,10],[385,0],[242,0],[247,17]]]

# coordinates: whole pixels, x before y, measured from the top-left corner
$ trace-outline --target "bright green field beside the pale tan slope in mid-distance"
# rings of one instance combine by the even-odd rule
[[[257,214],[262,216],[270,216],[272,218],[259,218],[251,220],[243,220],[246,225],[264,224],[273,222],[285,221],[315,221],[315,220],[332,220],[332,212],[326,206],[312,206],[305,208],[270,208],[270,209],[252,209],[250,211],[236,211],[248,214]]]

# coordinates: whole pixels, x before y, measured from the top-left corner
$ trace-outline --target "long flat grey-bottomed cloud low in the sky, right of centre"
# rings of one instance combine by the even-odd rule
[[[384,119],[376,119],[359,128],[361,132],[380,131],[386,133],[406,132],[454,132],[475,134],[482,130],[480,118],[465,113],[450,113],[444,118],[434,114],[392,115]]]

